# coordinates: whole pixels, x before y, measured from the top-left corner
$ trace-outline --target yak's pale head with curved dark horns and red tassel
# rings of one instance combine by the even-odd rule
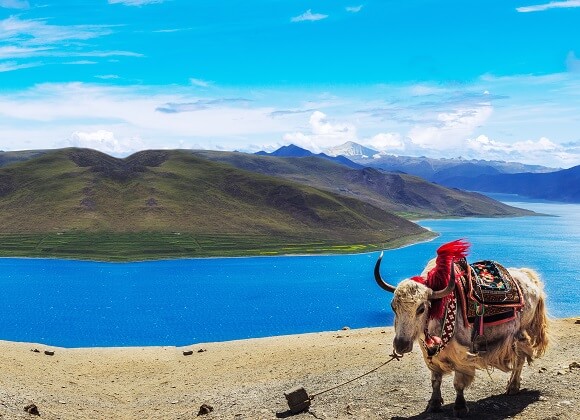
[[[448,296],[455,289],[453,262],[465,258],[468,248],[463,240],[441,246],[437,258],[427,265],[422,276],[403,280],[397,287],[381,277],[381,253],[375,265],[375,280],[382,289],[394,294],[391,307],[395,313],[395,353],[402,355],[413,350],[413,342],[424,331],[428,319],[443,317]]]

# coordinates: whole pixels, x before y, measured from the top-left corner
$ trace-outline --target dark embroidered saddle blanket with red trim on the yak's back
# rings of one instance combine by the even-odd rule
[[[483,316],[485,325],[497,325],[512,320],[524,306],[520,285],[510,273],[495,261],[467,264],[456,263],[458,301],[463,309],[465,325]]]

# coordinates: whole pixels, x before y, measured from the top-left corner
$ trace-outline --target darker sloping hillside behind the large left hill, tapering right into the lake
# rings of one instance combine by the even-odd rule
[[[384,173],[373,168],[352,169],[317,157],[279,158],[215,151],[194,151],[194,154],[353,197],[409,218],[533,214],[481,194],[443,187],[416,176]]]

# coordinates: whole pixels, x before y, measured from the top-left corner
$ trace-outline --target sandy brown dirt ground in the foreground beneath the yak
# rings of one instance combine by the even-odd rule
[[[547,354],[524,368],[519,395],[504,395],[508,374],[478,372],[465,394],[468,418],[577,418],[580,320],[553,320],[551,335]],[[0,418],[37,418],[24,410],[29,404],[43,419],[192,419],[202,404],[213,408],[199,416],[207,420],[453,418],[449,376],[443,411],[423,413],[431,385],[417,346],[402,360],[317,396],[308,412],[290,415],[285,391],[303,386],[313,395],[370,371],[388,360],[392,339],[392,328],[372,328],[181,348],[0,342]]]

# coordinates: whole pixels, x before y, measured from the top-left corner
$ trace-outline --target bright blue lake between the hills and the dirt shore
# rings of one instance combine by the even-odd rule
[[[504,199],[504,201],[507,201]],[[580,205],[514,201],[553,216],[424,220],[441,235],[388,251],[383,277],[419,274],[441,244],[537,270],[554,317],[580,315]],[[0,259],[0,339],[61,347],[182,346],[392,325],[378,253],[97,263]]]

